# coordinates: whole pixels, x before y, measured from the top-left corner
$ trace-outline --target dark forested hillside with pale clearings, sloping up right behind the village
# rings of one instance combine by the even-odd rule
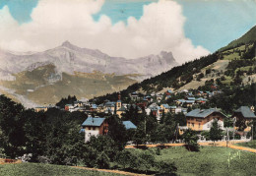
[[[208,56],[174,67],[157,77],[136,83],[121,91],[122,100],[129,101],[127,97],[133,91],[150,93],[159,92],[163,88],[196,89],[204,88],[208,83],[229,87],[252,84],[256,81],[255,36],[254,27],[241,38],[234,40],[235,44],[224,47],[225,49],[222,48]],[[117,93],[99,96],[96,103],[104,99],[116,100]]]

